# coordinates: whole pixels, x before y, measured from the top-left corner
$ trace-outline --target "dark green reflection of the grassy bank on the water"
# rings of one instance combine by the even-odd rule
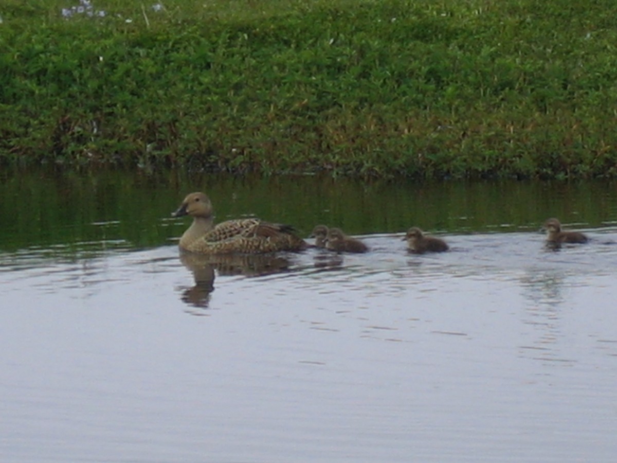
[[[189,191],[212,199],[217,220],[254,215],[308,236],[317,223],[352,235],[411,226],[442,233],[537,230],[548,217],[565,227],[610,227],[611,181],[361,181],[329,177],[234,177],[163,172],[0,172],[4,251],[99,243],[154,247],[178,238],[186,220],[169,211]],[[28,207],[23,207],[27,204]],[[78,251],[80,248],[76,247]],[[104,251],[105,249],[99,249]]]

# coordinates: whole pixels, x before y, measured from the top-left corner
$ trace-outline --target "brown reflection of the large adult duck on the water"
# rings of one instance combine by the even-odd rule
[[[190,306],[207,308],[214,291],[215,271],[218,275],[261,277],[286,272],[289,259],[276,254],[229,254],[215,256],[180,252],[180,261],[191,270],[195,285],[182,291],[181,300]]]

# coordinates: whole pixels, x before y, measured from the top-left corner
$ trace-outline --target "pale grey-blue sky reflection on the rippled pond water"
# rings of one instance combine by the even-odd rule
[[[3,254],[2,454],[610,461],[617,230],[589,233],[561,252],[492,233],[423,256],[400,234],[363,255]]]

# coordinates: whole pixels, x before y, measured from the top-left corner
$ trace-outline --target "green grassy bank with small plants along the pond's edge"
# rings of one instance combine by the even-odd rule
[[[617,177],[611,0],[85,5],[0,5],[1,164]]]

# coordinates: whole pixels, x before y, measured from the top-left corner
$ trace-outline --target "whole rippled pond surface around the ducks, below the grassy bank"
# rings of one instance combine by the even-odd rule
[[[2,175],[2,461],[617,454],[614,183]],[[194,190],[371,252],[180,256]],[[547,249],[552,216],[591,242]]]

